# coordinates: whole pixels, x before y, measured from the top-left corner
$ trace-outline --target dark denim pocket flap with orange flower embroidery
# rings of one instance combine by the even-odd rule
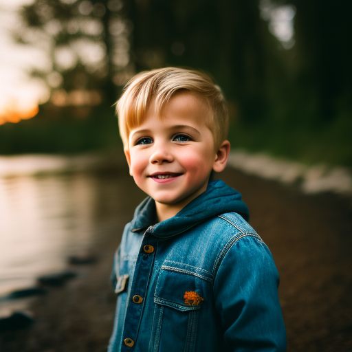
[[[179,311],[199,309],[206,300],[206,285],[207,282],[198,276],[160,269],[154,302]]]

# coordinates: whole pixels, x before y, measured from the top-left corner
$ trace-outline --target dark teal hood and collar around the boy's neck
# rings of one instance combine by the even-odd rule
[[[131,222],[132,231],[146,230],[159,238],[168,238],[184,232],[197,223],[225,212],[237,212],[248,220],[248,207],[242,201],[241,193],[221,180],[210,181],[206,192],[193,199],[174,217],[155,223],[155,201],[148,197],[137,206]]]

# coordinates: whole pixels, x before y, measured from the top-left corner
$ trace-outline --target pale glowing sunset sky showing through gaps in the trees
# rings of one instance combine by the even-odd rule
[[[32,3],[32,1],[0,0],[0,118],[1,115],[9,115],[9,113],[10,115],[12,113],[21,115],[28,111],[30,115],[36,111],[39,102],[45,102],[48,98],[45,85],[28,75],[31,67],[50,67],[47,56],[33,46],[14,43],[11,36],[11,32],[15,29],[21,30],[17,10],[21,5]],[[281,41],[286,49],[294,45],[292,21],[294,14],[295,10],[292,5],[275,7],[270,0],[261,0],[261,16],[268,21],[270,32]],[[99,51],[89,48],[88,45],[85,46],[86,50],[80,51],[87,52],[88,50],[89,54],[94,54],[96,59]],[[89,55],[85,56],[89,58]]]

